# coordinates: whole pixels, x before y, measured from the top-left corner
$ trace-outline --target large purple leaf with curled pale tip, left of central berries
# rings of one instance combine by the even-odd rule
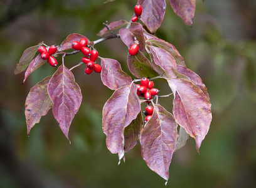
[[[124,157],[124,129],[141,112],[141,104],[134,83],[115,90],[107,100],[102,112],[103,132],[107,136],[106,145],[112,154]]]

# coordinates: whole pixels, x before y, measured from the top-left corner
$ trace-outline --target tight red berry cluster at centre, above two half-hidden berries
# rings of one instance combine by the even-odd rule
[[[147,78],[141,78],[141,85],[137,84],[137,95],[144,97],[147,103],[151,103],[152,96],[158,94],[159,90],[153,88],[154,82],[149,81]]]

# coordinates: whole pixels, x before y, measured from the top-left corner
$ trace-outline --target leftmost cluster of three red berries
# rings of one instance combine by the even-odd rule
[[[51,56],[56,53],[57,47],[55,45],[51,45],[48,50],[45,48],[45,46],[40,46],[38,48],[39,53],[41,53],[41,58],[43,60],[48,60],[48,63],[51,66],[56,66],[58,64],[57,60]]]

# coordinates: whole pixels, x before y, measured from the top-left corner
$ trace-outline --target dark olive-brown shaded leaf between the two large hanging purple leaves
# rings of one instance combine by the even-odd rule
[[[141,133],[142,127],[142,113],[138,113],[137,118],[132,120],[130,125],[124,129],[124,152],[129,152],[139,142],[139,134]]]

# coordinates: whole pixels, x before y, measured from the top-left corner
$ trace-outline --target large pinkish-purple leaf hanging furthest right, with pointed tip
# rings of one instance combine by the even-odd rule
[[[199,153],[211,123],[211,103],[205,93],[191,81],[183,78],[167,80],[174,93],[173,115],[176,122],[196,140]]]

